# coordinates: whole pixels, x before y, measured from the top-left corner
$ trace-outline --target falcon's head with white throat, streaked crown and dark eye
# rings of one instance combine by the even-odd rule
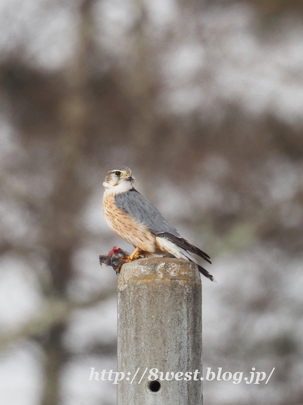
[[[108,191],[123,193],[133,188],[135,178],[131,175],[131,170],[126,166],[115,166],[108,171],[103,183]]]

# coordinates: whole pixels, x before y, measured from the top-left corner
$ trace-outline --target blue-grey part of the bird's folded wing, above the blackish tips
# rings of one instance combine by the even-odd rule
[[[171,226],[157,208],[137,190],[132,189],[115,196],[117,206],[133,217],[137,222],[145,224],[151,233],[159,235],[168,233],[181,237],[179,232]]]

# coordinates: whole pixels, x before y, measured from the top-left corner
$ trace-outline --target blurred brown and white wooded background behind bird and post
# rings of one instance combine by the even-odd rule
[[[303,403],[301,0],[0,1],[0,402],[114,405],[106,172],[213,259],[208,405]]]

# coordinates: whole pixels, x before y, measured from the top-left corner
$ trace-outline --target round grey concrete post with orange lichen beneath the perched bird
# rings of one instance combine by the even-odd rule
[[[125,378],[118,384],[118,405],[201,405],[201,350],[196,265],[170,258],[124,264],[118,280],[118,371]],[[157,381],[148,381],[150,369],[159,370]]]

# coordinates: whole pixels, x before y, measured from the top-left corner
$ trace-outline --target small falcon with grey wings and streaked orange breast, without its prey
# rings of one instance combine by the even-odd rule
[[[111,169],[103,183],[103,213],[109,227],[134,246],[126,261],[140,256],[168,254],[197,264],[199,271],[215,281],[190,254],[194,253],[209,263],[211,258],[183,238],[157,208],[135,188],[135,178],[126,166]]]

